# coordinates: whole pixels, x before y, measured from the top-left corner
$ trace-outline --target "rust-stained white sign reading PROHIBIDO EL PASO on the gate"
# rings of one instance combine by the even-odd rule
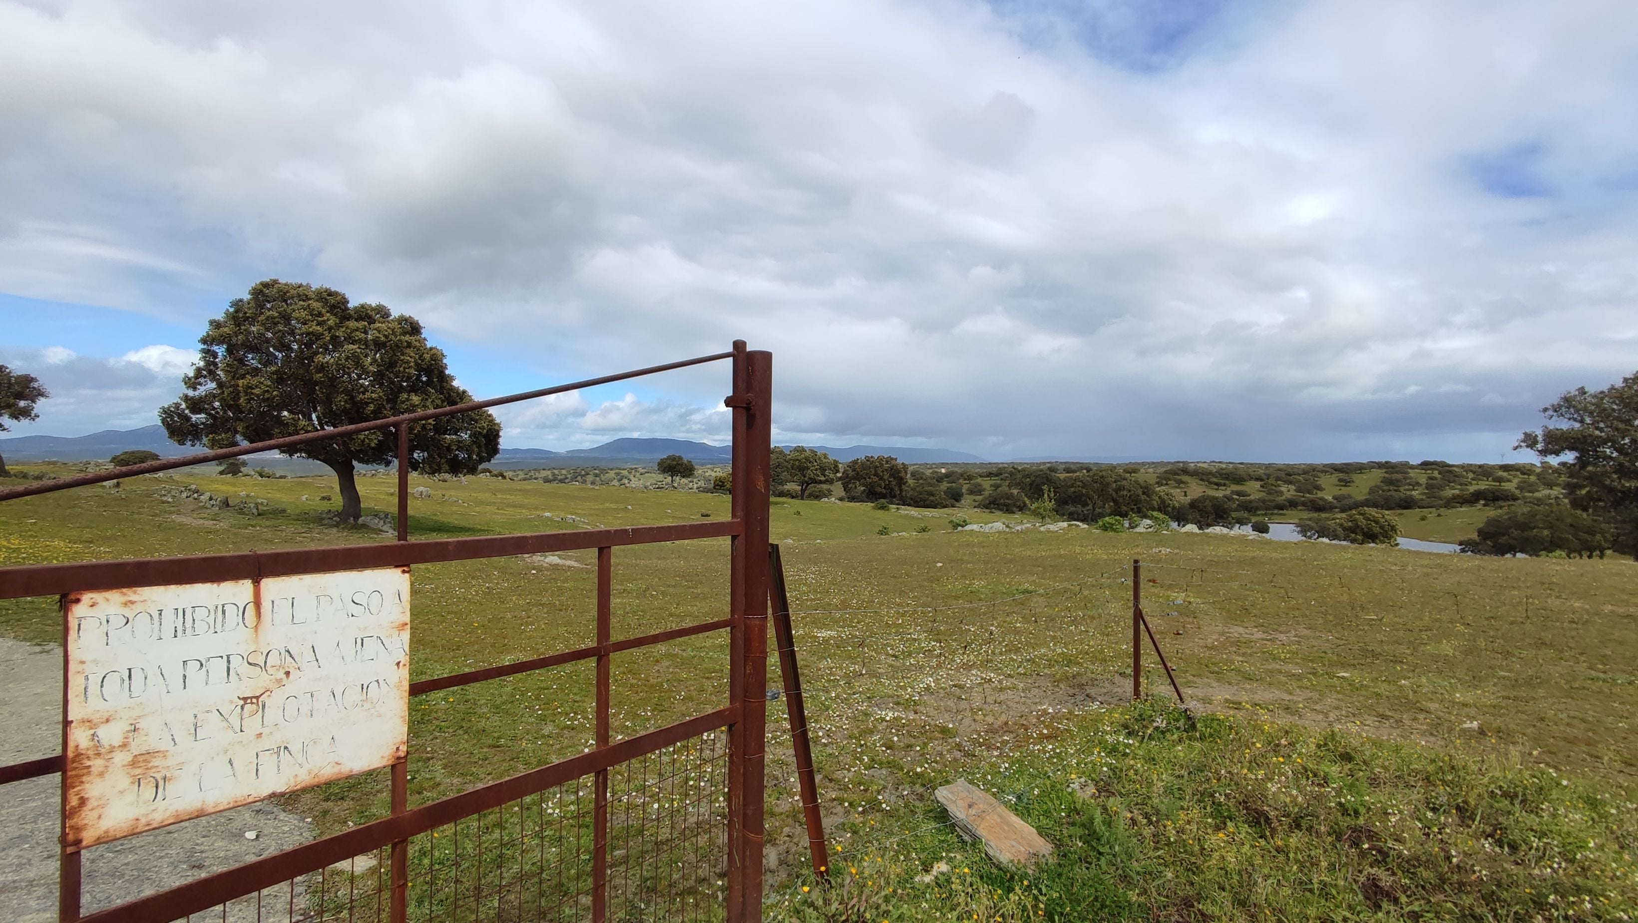
[[[405,756],[408,567],[72,593],[64,612],[70,848]]]

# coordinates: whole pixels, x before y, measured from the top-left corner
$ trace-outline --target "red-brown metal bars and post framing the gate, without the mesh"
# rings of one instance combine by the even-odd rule
[[[468,413],[488,407],[498,407],[532,397],[562,393],[573,389],[596,384],[616,382],[652,372],[698,366],[717,359],[734,359],[734,393],[724,403],[734,411],[734,469],[732,469],[732,516],[727,521],[683,523],[667,526],[632,526],[618,530],[588,530],[577,533],[531,533],[511,536],[482,536],[464,539],[410,541],[408,516],[408,474],[410,474],[410,428],[416,421],[434,420]],[[663,366],[652,366],[634,372],[621,372],[600,379],[588,379],[568,385],[557,385],[518,395],[472,402],[437,410],[406,413],[400,416],[339,426],[316,433],[303,433],[282,439],[270,439],[249,446],[236,446],[213,452],[201,452],[180,459],[161,459],[143,466],[129,466],[113,472],[95,472],[80,477],[36,482],[25,487],[0,490],[0,502],[38,493],[49,493],[69,487],[98,484],[118,477],[136,474],[152,474],[192,464],[219,461],[236,456],[254,454],[269,449],[288,449],[306,443],[367,433],[391,428],[398,443],[398,521],[396,539],[390,544],[341,546],[341,548],[306,548],[280,549],[267,552],[234,552],[190,557],[162,557],[139,561],[97,561],[75,564],[44,564],[0,569],[0,598],[39,597],[87,590],[105,590],[121,587],[152,587],[165,584],[187,584],[200,580],[252,580],[259,585],[264,577],[362,571],[373,567],[403,567],[413,564],[431,564],[447,561],[470,561],[483,557],[503,557],[532,552],[555,552],[581,548],[598,549],[598,610],[596,610],[596,644],[575,651],[563,651],[531,657],[513,664],[498,664],[434,677],[410,684],[411,695],[421,695],[455,685],[483,682],[506,675],[516,675],[550,666],[568,664],[581,659],[596,659],[596,748],[578,757],[554,762],[550,766],[514,775],[500,782],[482,785],[462,795],[444,798],[419,808],[408,808],[408,762],[406,759],[391,764],[391,815],[349,830],[346,833],[324,838],[295,849],[259,859],[236,869],[206,875],[203,879],[169,889],[165,892],[139,898],[120,907],[113,907],[85,920],[98,921],[134,921],[147,923],[157,920],[174,920],[206,908],[221,905],[226,920],[228,902],[256,897],[257,918],[260,918],[262,890],[275,884],[288,884],[290,915],[295,915],[296,879],[311,872],[319,874],[319,913],[324,915],[328,892],[328,869],[341,861],[352,866],[352,857],[365,853],[390,849],[390,867],[383,887],[382,869],[377,866],[373,875],[373,897],[377,915],[380,913],[382,890],[390,889],[390,920],[401,921],[408,913],[410,902],[410,841],[411,838],[432,831],[437,826],[452,825],[457,839],[459,859],[459,821],[478,815],[480,844],[483,834],[482,813],[501,805],[519,802],[529,795],[537,795],[537,808],[544,812],[542,792],[570,780],[593,777],[595,815],[591,836],[591,882],[590,910],[591,918],[601,923],[609,910],[609,771],[619,764],[644,757],[647,769],[649,754],[673,748],[685,739],[716,730],[727,730],[727,752],[724,775],[726,793],[726,900],[729,920],[762,918],[762,841],[763,841],[763,752],[767,726],[767,613],[768,613],[768,559],[760,552],[768,539],[768,452],[771,443],[771,356],[768,352],[752,352],[744,341],[734,341],[732,352],[719,352],[685,359]],[[611,639],[611,561],[616,546],[649,544],[662,541],[685,541],[699,538],[729,538],[732,543],[732,577],[729,616],[699,625],[657,631],[622,641]],[[608,728],[609,713],[609,657],[619,651],[629,651],[649,644],[660,644],[691,634],[729,630],[729,703],[724,708],[698,715],[686,721],[650,731],[624,741],[611,741]],[[64,626],[67,638],[67,625]],[[67,646],[64,648],[67,656]],[[64,708],[67,703],[64,703]],[[693,751],[690,751],[693,752]],[[675,766],[675,754],[673,754]],[[64,769],[64,757],[43,757],[0,767],[0,785]],[[673,772],[675,775],[675,772]],[[627,821],[631,810],[629,767],[627,767]],[[708,800],[711,795],[706,793]],[[640,798],[644,816],[639,823],[639,836],[647,834],[647,812],[650,802],[647,795]],[[683,800],[683,828],[688,830],[690,813],[699,798]],[[673,797],[672,805],[678,802]],[[66,808],[64,808],[66,810]],[[521,805],[514,810],[521,810]],[[501,861],[508,839],[505,834],[505,816],[498,818],[501,831]],[[675,820],[673,820],[675,826]],[[709,825],[708,825],[709,826]],[[698,825],[696,825],[698,828]],[[629,831],[627,831],[629,833]],[[436,833],[432,834],[436,838]],[[577,834],[578,836],[578,834]],[[518,838],[511,843],[523,846],[526,833],[519,820]],[[470,834],[468,834],[470,841]],[[542,846],[544,849],[544,846]],[[655,846],[658,856],[658,846]],[[709,848],[708,848],[709,853]],[[519,875],[521,875],[519,853]],[[59,889],[59,918],[80,920],[80,851],[64,849]],[[436,866],[429,859],[429,875],[436,874]],[[498,889],[506,889],[506,871],[496,869]],[[355,875],[347,875],[349,897],[355,884]],[[640,874],[639,874],[640,879]],[[477,890],[483,890],[482,849],[478,854]],[[459,884],[459,882],[457,882]],[[516,882],[519,898],[523,895],[521,879]],[[578,885],[577,885],[578,893]],[[539,893],[537,893],[539,897]],[[351,915],[351,902],[349,902]]]

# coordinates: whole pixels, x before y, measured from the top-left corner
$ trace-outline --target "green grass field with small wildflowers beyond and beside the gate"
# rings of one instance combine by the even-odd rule
[[[182,484],[241,508],[269,503],[249,516],[162,497]],[[411,505],[416,536],[729,512],[726,497],[695,492],[413,484],[432,492]],[[362,479],[365,512],[391,510],[393,487],[388,477]],[[18,500],[0,505],[0,564],[390,539],[328,525],[323,513],[334,503],[319,497],[333,492],[318,477],[185,472],[129,479],[116,492]],[[775,502],[821,797],[842,849],[837,872],[842,862],[850,871],[844,887],[827,889],[801,871],[788,743],[770,730],[768,843],[780,856],[770,915],[1635,913],[1631,562],[1179,533],[952,533],[950,513]],[[1437,513],[1445,516],[1407,516],[1428,530],[1464,528],[1446,520],[1466,510]],[[881,526],[894,534],[878,536]],[[1425,536],[1450,541],[1443,534]],[[1130,685],[1124,580],[1133,557],[1145,562],[1145,608],[1184,693],[1219,716],[1196,723],[1158,705],[1120,705]],[[577,564],[591,559],[416,569],[411,674],[590,643],[593,571]],[[726,539],[616,549],[616,638],[726,615],[727,564]],[[0,602],[0,633],[56,641],[56,600]],[[1148,662],[1148,689],[1170,693]],[[724,700],[726,638],[614,661],[616,734]],[[770,728],[783,726],[776,708]],[[580,752],[590,738],[590,664],[419,697],[411,802]],[[930,790],[955,777],[1011,798],[1060,844],[1060,861],[1002,872],[939,826]],[[385,793],[377,772],[292,802],[321,830],[339,830],[380,816]],[[917,882],[937,861],[970,872]]]

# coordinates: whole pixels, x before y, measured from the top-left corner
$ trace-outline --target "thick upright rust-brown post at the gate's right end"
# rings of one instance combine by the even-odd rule
[[[768,452],[773,354],[734,341],[734,541],[727,739],[727,918],[762,920],[763,754],[768,725]]]

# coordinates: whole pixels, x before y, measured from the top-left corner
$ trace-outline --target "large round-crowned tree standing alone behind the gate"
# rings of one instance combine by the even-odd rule
[[[210,321],[182,385],[159,421],[172,441],[213,449],[472,400],[413,316],[277,279],[257,282]],[[411,426],[408,461],[428,474],[473,474],[500,444],[500,423],[478,410]],[[329,466],[341,518],[357,521],[354,466],[390,464],[398,444],[378,430],[282,451]]]

